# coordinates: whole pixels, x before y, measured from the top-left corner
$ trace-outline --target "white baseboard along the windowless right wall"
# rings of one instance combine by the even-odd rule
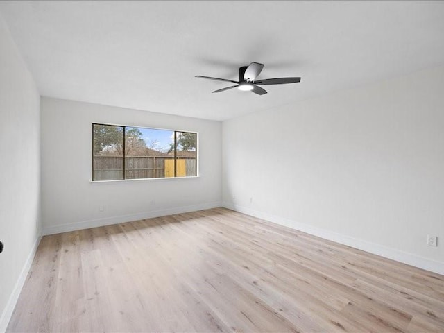
[[[397,250],[395,248],[388,248],[386,246],[375,244],[370,241],[364,241],[362,239],[357,239],[354,237],[339,234],[337,232],[332,232],[330,230],[317,228],[311,225],[307,225],[305,223],[299,223],[296,221],[292,221],[290,219],[284,219],[280,216],[259,212],[258,210],[253,210],[248,207],[234,205],[232,203],[223,203],[223,207],[250,216],[255,216],[259,219],[277,223],[279,225],[284,225],[291,229],[307,232],[307,234],[313,234],[314,236],[321,237],[323,239],[336,241],[336,243],[351,246],[352,248],[357,248],[359,250],[364,250],[368,253],[373,253],[374,255],[380,255],[381,257],[393,259],[397,262],[402,262],[404,264],[408,264],[411,266],[425,269],[427,271],[432,271],[444,275],[444,262],[438,262],[436,260],[427,259],[425,257],[420,257],[418,255],[406,253]]]

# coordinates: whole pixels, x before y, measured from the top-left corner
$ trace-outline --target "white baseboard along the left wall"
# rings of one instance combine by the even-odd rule
[[[42,236],[37,237],[35,239],[33,248],[31,249],[31,252],[28,255],[28,258],[26,259],[26,262],[22,268],[22,271],[20,272],[19,278],[17,279],[17,282],[15,283],[14,289],[12,290],[12,293],[9,297],[8,302],[6,303],[6,307],[3,310],[3,313],[0,317],[0,332],[5,332],[6,328],[8,328],[8,323],[10,321],[10,318],[12,316],[12,312],[14,311],[15,305],[17,304],[17,300],[19,300],[20,292],[22,291],[23,285],[26,281],[26,276],[28,276],[29,269],[31,268],[31,264],[33,264],[35,253],[37,252],[37,247],[39,246],[40,239]]]

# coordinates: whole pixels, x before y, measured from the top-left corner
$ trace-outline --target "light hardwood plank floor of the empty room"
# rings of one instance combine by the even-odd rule
[[[444,332],[444,276],[218,208],[43,237],[37,331]]]

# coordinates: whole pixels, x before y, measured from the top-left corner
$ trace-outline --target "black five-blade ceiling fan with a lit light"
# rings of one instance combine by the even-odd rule
[[[196,78],[207,78],[209,80],[226,81],[236,83],[231,87],[214,90],[214,92],[225,92],[237,87],[239,90],[254,92],[258,95],[266,94],[266,90],[258,85],[283,85],[284,83],[298,83],[300,78],[266,78],[264,80],[255,80],[264,68],[263,64],[252,62],[248,66],[239,67],[239,81],[228,80],[226,78],[212,78],[211,76],[196,75]]]

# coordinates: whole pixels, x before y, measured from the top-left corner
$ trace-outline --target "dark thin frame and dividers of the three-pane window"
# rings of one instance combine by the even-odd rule
[[[122,155],[122,159],[123,159],[123,167],[122,167],[122,173],[123,173],[123,178],[122,179],[110,179],[110,180],[94,180],[94,125],[101,125],[101,126],[115,126],[115,127],[121,127],[123,128],[123,144],[122,144],[122,150],[123,150],[123,155]],[[174,160],[174,176],[173,177],[153,177],[153,178],[125,178],[126,177],[126,155],[125,155],[125,151],[126,151],[126,128],[146,128],[148,130],[169,130],[171,132],[174,133],[174,140],[173,140],[173,144],[174,144],[174,155],[173,155],[173,160]],[[177,176],[177,133],[192,133],[194,135],[196,135],[196,174],[194,176]],[[199,147],[199,142],[198,142],[198,132],[194,132],[191,130],[173,130],[170,128],[157,128],[157,127],[147,127],[147,126],[133,126],[133,125],[117,125],[115,123],[98,123],[98,122],[93,122],[92,126],[91,126],[91,178],[90,178],[90,182],[127,182],[127,181],[135,181],[135,180],[173,180],[173,179],[187,179],[187,178],[198,178],[199,177],[199,163],[198,163],[198,147]]]

